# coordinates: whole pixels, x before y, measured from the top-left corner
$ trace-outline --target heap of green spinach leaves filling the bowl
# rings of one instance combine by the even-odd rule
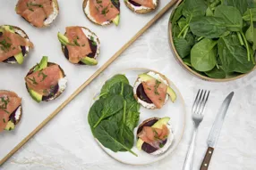
[[[175,49],[203,76],[236,77],[255,66],[255,0],[183,0],[171,17]]]

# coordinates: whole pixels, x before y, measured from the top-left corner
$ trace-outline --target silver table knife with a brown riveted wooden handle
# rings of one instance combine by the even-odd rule
[[[220,109],[218,110],[218,114],[215,118],[214,124],[212,125],[210,133],[209,133],[209,137],[208,137],[208,141],[207,141],[208,150],[207,150],[205,157],[201,163],[200,170],[207,170],[209,167],[210,158],[213,154],[213,150],[218,141],[218,136],[220,134],[220,130],[223,125],[227,109],[229,107],[229,104],[230,104],[233,96],[234,96],[234,92],[229,93],[227,95],[225,101],[223,101]]]

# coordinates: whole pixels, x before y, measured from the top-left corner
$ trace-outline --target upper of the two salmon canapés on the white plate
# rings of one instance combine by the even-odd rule
[[[164,75],[149,71],[139,75],[134,86],[133,94],[135,99],[146,109],[161,109],[171,98],[175,102],[175,91],[169,86]]]

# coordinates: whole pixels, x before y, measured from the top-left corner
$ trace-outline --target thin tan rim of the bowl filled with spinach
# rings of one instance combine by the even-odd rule
[[[190,74],[192,74],[194,77],[198,77],[202,80],[206,80],[206,81],[210,81],[210,82],[228,82],[228,81],[233,81],[233,80],[237,80],[239,78],[245,77],[247,75],[249,75],[250,73],[252,73],[255,69],[256,66],[248,73],[244,73],[241,74],[237,77],[229,77],[229,78],[211,78],[211,77],[205,77],[202,76],[201,74],[197,73],[196,71],[192,70],[190,67],[188,67],[182,60],[182,58],[180,57],[180,55],[177,53],[176,48],[175,48],[175,44],[174,44],[174,40],[173,40],[173,28],[172,28],[172,22],[171,22],[171,17],[173,16],[175,9],[179,6],[179,4],[181,4],[183,2],[183,0],[179,1],[176,5],[174,10],[171,12],[171,15],[169,17],[168,20],[168,38],[169,38],[169,45],[172,48],[172,51],[175,53],[175,60],[178,61],[178,63],[183,67],[183,69],[185,69],[187,72],[189,72]]]

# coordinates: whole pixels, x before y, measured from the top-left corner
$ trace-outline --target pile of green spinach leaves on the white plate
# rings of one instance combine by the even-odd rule
[[[141,105],[134,99],[128,79],[115,75],[102,86],[99,96],[88,115],[92,134],[110,150],[129,151],[137,156],[131,149]]]

